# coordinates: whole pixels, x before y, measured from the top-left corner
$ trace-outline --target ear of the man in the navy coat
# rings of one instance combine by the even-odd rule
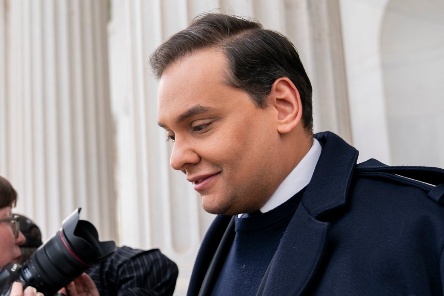
[[[281,77],[274,81],[270,98],[277,111],[277,128],[281,134],[291,132],[302,118],[302,103],[295,84]]]

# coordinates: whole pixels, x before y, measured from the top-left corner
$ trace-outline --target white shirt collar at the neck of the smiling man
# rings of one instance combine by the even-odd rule
[[[260,212],[266,213],[273,210],[310,183],[316,163],[321,155],[321,150],[322,148],[319,141],[313,139],[313,145],[310,150],[308,150],[307,154],[299,161],[293,171],[291,171],[287,178],[279,185],[270,199],[260,208]],[[239,214],[238,217],[242,215],[243,214]]]

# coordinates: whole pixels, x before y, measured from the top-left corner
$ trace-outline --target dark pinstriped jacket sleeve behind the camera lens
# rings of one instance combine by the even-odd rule
[[[158,249],[143,251],[124,246],[86,273],[100,295],[172,296],[179,271],[176,263]]]

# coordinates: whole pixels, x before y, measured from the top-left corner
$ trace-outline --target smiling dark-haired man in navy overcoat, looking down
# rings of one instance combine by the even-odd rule
[[[443,295],[444,170],[313,135],[294,45],[205,14],[152,54],[171,166],[219,214],[188,295]]]

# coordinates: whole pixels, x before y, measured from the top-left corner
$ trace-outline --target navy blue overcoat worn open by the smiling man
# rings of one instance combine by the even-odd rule
[[[444,295],[444,170],[357,165],[341,138],[315,137],[320,159],[262,295]],[[218,215],[208,229],[188,296],[199,294],[230,220]]]

